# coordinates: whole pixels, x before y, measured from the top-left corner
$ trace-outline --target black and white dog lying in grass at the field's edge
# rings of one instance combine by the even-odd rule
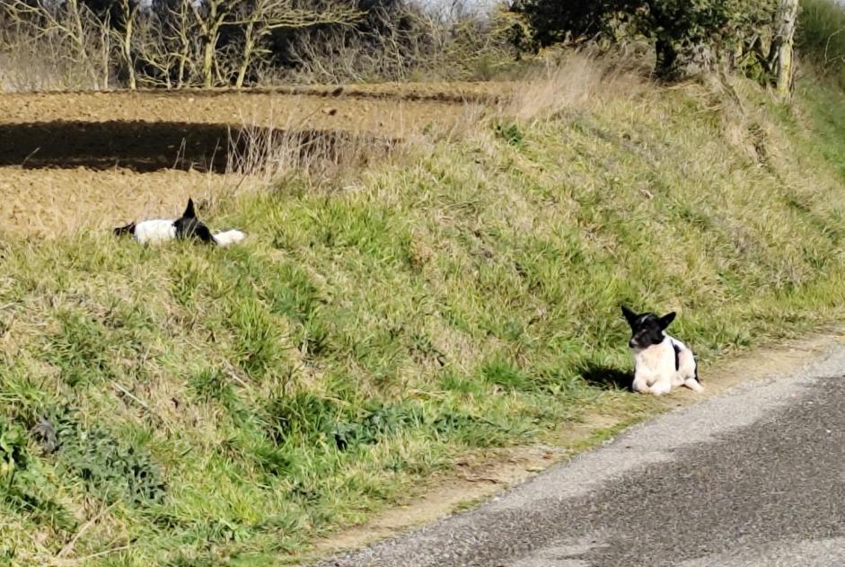
[[[188,207],[179,218],[142,220],[139,223],[119,226],[113,229],[113,232],[115,235],[133,235],[139,244],[159,244],[169,240],[197,238],[203,243],[228,246],[241,242],[246,237],[240,230],[235,229],[212,235],[208,227],[198,220],[193,199],[188,199]]]

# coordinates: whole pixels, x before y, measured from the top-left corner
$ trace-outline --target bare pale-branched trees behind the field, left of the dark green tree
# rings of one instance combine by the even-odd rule
[[[88,88],[489,78],[515,60],[499,24],[409,0],[0,0],[0,63]]]

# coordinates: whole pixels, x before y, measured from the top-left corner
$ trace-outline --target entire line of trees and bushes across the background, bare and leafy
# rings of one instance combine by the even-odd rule
[[[716,68],[788,92],[796,27],[823,66],[845,58],[834,0],[0,0],[0,79],[74,86],[476,80],[552,46],[645,46],[663,80]],[[26,73],[23,73],[26,70]],[[5,74],[2,75],[2,74]]]

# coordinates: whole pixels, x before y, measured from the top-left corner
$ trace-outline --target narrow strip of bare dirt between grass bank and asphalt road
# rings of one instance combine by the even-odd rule
[[[817,335],[801,341],[752,350],[730,359],[723,359],[710,368],[703,368],[703,394],[681,388],[664,398],[655,399],[658,408],[672,410],[700,402],[743,382],[787,375],[805,366],[834,344],[845,341],[841,333]],[[629,394],[639,395],[639,394]],[[468,456],[455,462],[453,471],[431,479],[404,505],[387,509],[356,527],[318,541],[310,557],[336,554],[370,545],[409,530],[412,527],[445,518],[455,511],[489,499],[516,483],[523,483],[533,474],[577,454],[606,439],[607,434],[626,424],[618,415],[588,414],[582,423],[562,430],[553,445],[509,447],[486,456]]]

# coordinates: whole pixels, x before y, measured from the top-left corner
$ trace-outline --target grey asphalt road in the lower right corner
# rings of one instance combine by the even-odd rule
[[[845,565],[845,347],[334,567]]]

